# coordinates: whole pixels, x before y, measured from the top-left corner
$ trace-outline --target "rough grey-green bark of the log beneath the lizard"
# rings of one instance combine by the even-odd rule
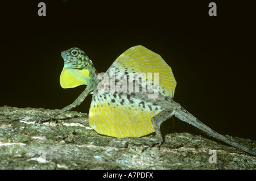
[[[69,111],[59,123],[34,125],[56,110],[0,107],[0,169],[255,169],[256,158],[205,135],[164,133],[160,150],[142,138],[113,138],[89,127],[88,115]],[[255,141],[233,138],[249,148]],[[209,163],[216,150],[217,163]],[[44,159],[45,158],[45,159]],[[46,163],[40,163],[44,162]]]

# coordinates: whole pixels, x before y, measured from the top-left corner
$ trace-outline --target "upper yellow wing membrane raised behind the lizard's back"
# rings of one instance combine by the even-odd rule
[[[176,81],[172,69],[159,54],[138,45],[127,49],[108,69],[120,72],[159,73],[159,94],[174,97]],[[152,76],[154,81],[154,76]]]

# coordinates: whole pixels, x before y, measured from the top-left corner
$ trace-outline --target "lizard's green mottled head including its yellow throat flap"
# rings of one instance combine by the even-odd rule
[[[71,48],[61,52],[64,59],[64,68],[60,74],[62,88],[73,88],[88,85],[92,61],[80,48]]]

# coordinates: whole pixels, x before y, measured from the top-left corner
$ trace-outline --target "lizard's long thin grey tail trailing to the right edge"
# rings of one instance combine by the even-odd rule
[[[204,131],[204,132],[210,134],[210,136],[212,136],[214,138],[217,138],[218,140],[221,140],[221,141],[225,142],[226,144],[232,145],[232,146],[234,146],[238,149],[241,149],[243,151],[246,151],[247,153],[250,153],[250,154],[256,156],[256,152],[254,150],[249,149],[249,148],[247,148],[243,145],[240,145],[237,142],[230,141],[225,136],[222,136],[220,133],[217,133],[213,129],[210,129],[209,127],[207,127],[207,125],[202,123],[200,120],[198,120],[195,116],[193,116],[191,113],[189,113],[187,110],[185,110],[180,105],[179,105],[179,107],[180,108],[178,108],[174,111],[174,114],[180,120],[182,120],[186,123],[189,123],[189,124],[193,125],[196,128],[201,129],[201,131]]]

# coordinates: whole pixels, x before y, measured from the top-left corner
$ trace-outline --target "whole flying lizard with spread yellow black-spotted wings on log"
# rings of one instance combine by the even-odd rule
[[[126,138],[155,132],[150,145],[160,147],[163,142],[160,125],[175,116],[226,144],[256,155],[254,150],[213,131],[173,100],[176,87],[174,74],[159,54],[141,45],[131,47],[113,62],[106,73],[100,74],[79,48],[65,50],[61,56],[64,59],[61,87],[87,85],[86,89],[72,104],[35,123],[49,121],[72,110],[93,93],[89,125],[97,133]]]

